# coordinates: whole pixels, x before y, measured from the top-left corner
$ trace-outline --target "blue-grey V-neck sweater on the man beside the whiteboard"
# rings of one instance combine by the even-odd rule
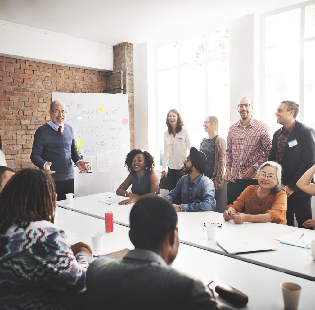
[[[55,181],[73,179],[73,164],[81,159],[77,152],[74,132],[70,125],[64,124],[62,133],[54,130],[49,124],[37,128],[31,152],[31,161],[43,169],[46,161],[51,161],[50,169],[56,171],[51,176]]]

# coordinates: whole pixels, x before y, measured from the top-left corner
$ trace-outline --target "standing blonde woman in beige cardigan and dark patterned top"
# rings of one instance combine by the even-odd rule
[[[199,150],[206,154],[207,166],[204,173],[215,184],[215,190],[222,189],[224,184],[225,140],[218,135],[219,121],[215,116],[207,116],[203,129],[208,137],[201,140]]]

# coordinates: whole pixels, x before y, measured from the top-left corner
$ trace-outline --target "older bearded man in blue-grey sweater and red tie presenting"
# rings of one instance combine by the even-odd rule
[[[77,152],[73,128],[65,124],[66,106],[61,101],[50,104],[51,120],[38,127],[33,141],[31,161],[52,175],[56,183],[58,200],[74,193],[73,160],[80,172],[88,172],[86,164]]]

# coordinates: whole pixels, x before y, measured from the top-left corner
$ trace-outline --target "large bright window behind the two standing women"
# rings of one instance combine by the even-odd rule
[[[166,116],[177,109],[195,147],[199,148],[205,116],[219,119],[226,138],[229,120],[229,29],[158,48],[157,154],[162,165]],[[157,163],[158,164],[158,163]]]

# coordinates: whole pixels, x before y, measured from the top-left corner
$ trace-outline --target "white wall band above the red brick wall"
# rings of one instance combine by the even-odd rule
[[[90,70],[113,70],[112,46],[0,20],[2,56]]]

